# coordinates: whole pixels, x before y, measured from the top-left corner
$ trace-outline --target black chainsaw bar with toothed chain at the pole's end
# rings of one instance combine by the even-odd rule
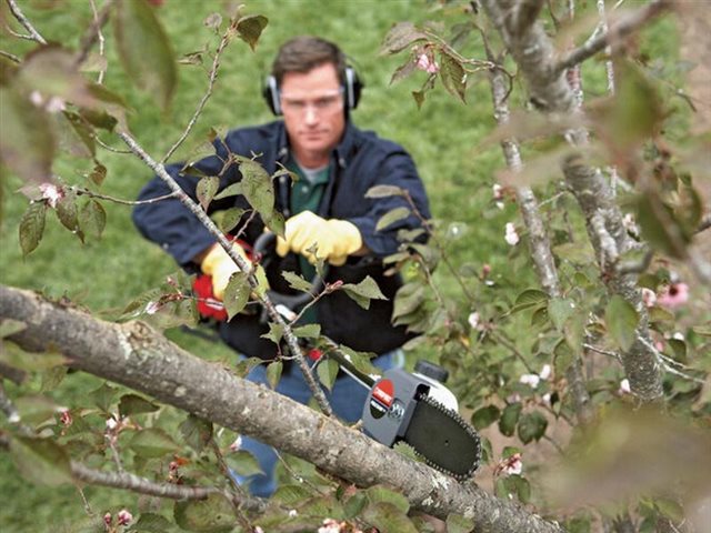
[[[477,431],[425,393],[418,396],[403,440],[429,466],[459,481],[471,477],[481,461]]]

